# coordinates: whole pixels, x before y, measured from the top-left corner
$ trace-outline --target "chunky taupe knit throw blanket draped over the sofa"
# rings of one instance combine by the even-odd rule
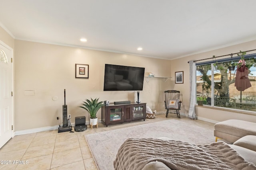
[[[118,150],[114,168],[141,170],[156,160],[172,170],[256,170],[252,162],[244,160],[222,141],[192,145],[152,138],[127,139]]]

